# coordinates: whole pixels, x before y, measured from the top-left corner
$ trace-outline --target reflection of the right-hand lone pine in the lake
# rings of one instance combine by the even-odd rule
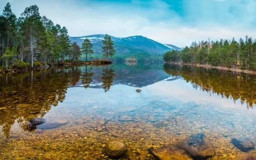
[[[115,76],[115,71],[112,69],[109,69],[108,66],[103,69],[103,73],[102,73],[102,86],[103,89],[106,91],[108,91],[113,83],[113,78]]]

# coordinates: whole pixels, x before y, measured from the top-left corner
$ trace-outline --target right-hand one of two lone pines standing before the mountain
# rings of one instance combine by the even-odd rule
[[[109,59],[109,56],[114,56],[116,50],[114,49],[114,42],[111,40],[110,35],[105,35],[104,39],[102,40],[103,43],[103,56]]]

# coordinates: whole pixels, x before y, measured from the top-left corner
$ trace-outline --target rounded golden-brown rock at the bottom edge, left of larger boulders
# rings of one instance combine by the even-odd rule
[[[113,141],[105,146],[105,151],[111,158],[122,157],[126,153],[126,150],[126,144],[121,141]]]

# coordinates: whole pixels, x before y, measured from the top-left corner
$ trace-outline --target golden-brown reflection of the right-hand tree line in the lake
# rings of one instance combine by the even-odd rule
[[[241,104],[246,103],[247,107],[256,104],[256,76],[191,66],[177,68],[177,66],[167,64],[164,66],[164,70],[173,76],[182,76],[196,89],[200,88],[210,94],[221,95],[221,97],[231,97],[234,101],[240,99]]]

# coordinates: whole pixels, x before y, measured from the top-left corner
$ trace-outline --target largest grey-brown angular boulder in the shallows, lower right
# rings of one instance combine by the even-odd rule
[[[210,139],[203,133],[196,133],[177,144],[179,149],[184,150],[195,160],[205,160],[215,155]]]

